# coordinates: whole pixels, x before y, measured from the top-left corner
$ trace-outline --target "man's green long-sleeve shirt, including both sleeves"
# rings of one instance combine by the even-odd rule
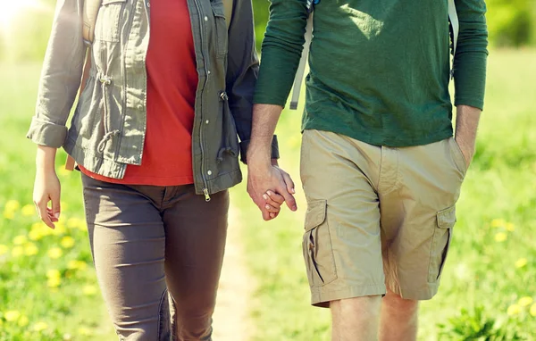
[[[484,0],[456,0],[460,31],[455,104],[482,109],[487,51]],[[256,104],[284,105],[304,43],[306,0],[272,0]],[[376,146],[452,136],[447,0],[321,0],[306,79],[302,129]]]

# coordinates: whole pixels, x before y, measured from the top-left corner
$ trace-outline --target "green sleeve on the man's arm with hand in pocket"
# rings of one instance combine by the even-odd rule
[[[454,56],[455,105],[483,108],[488,58],[484,0],[456,0],[460,24]]]

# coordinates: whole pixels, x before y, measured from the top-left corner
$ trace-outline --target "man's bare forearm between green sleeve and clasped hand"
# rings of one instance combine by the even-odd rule
[[[247,151],[248,163],[271,164],[272,137],[283,108],[274,104],[255,104],[251,142]]]

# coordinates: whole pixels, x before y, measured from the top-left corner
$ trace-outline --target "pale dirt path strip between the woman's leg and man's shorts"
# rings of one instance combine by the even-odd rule
[[[239,211],[232,206],[218,300],[214,312],[214,341],[247,341],[252,334],[248,304],[254,288],[240,241]]]

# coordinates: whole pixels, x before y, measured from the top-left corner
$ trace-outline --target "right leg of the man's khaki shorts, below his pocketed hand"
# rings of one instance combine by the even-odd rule
[[[430,299],[447,259],[465,162],[453,138],[397,153],[396,187],[380,191],[387,286],[407,299]]]

